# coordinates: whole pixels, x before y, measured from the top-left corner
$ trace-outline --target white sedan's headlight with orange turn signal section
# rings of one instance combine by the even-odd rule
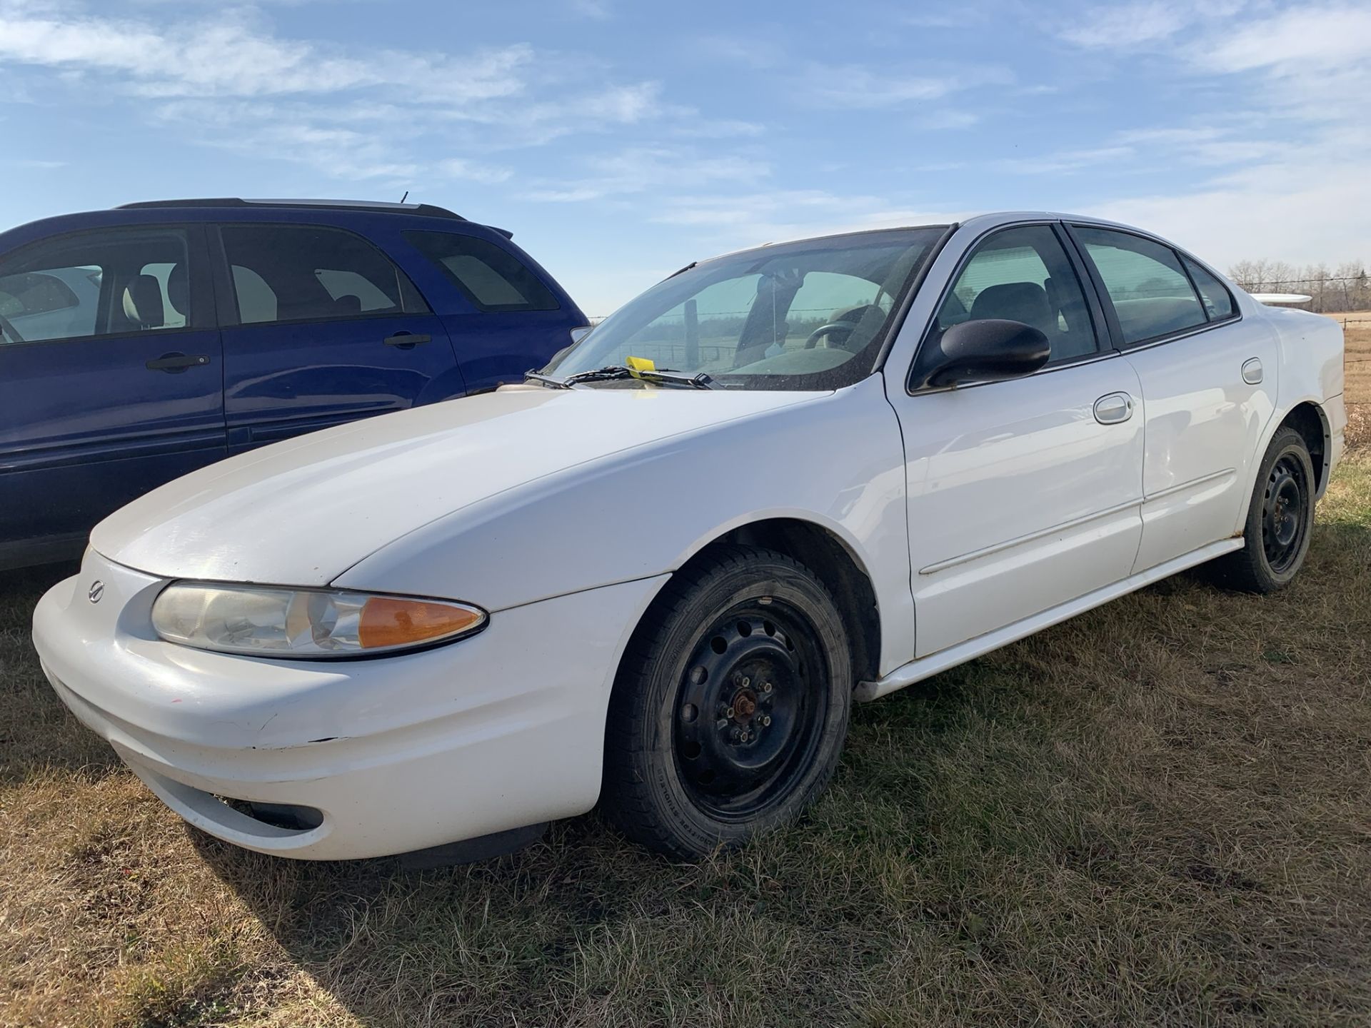
[[[335,589],[177,583],[152,604],[170,643],[260,657],[339,658],[413,650],[480,631],[480,607]]]

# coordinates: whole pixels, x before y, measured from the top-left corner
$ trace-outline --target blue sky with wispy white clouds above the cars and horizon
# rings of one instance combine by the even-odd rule
[[[0,0],[0,228],[452,207],[590,314],[692,259],[984,210],[1371,256],[1371,4]]]

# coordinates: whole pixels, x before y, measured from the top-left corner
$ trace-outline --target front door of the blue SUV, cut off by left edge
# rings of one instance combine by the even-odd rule
[[[78,551],[225,455],[200,226],[103,228],[0,258],[0,566]]]

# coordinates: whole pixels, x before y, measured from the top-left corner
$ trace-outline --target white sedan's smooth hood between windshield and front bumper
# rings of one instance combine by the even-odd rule
[[[229,458],[115,511],[90,544],[167,578],[325,585],[470,503],[820,395],[506,387]]]

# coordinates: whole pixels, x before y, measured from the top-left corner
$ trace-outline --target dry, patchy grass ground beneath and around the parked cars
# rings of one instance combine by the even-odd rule
[[[443,870],[219,844],[43,681],[64,573],[0,581],[0,1024],[1371,1023],[1366,445],[1287,591],[1182,576],[858,707],[812,817],[699,865],[594,816]]]

